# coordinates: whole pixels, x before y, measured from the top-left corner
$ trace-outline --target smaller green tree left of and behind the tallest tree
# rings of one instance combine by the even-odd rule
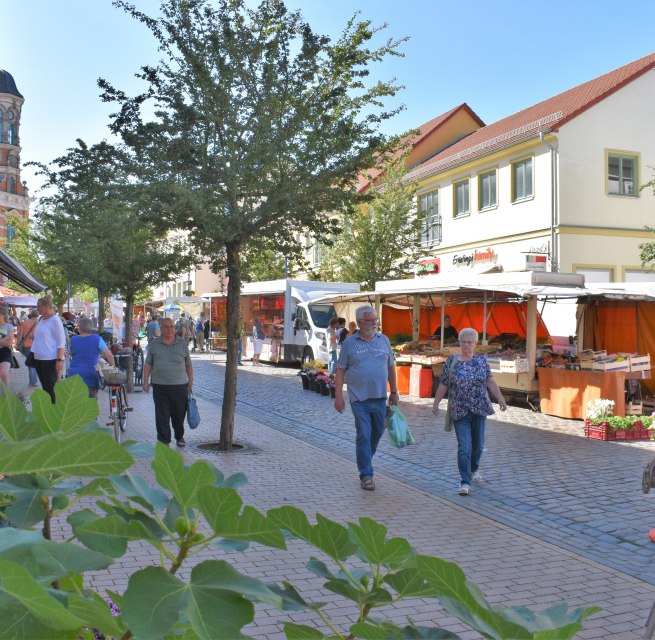
[[[166,233],[141,216],[132,164],[125,149],[78,140],[39,171],[49,192],[42,200],[47,215],[40,223],[52,262],[77,273],[101,296],[119,294],[125,300],[128,344],[135,298],[194,261],[185,234]]]

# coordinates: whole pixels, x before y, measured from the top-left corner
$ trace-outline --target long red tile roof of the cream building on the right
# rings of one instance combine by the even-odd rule
[[[517,143],[523,138],[534,136],[539,131],[556,131],[563,124],[654,67],[655,53],[652,53],[498,122],[482,127],[426,160],[411,171],[408,177],[419,179],[434,175],[508,144]]]

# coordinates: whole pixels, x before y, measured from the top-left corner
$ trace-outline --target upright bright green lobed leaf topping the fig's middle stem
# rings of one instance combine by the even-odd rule
[[[208,463],[197,461],[185,468],[182,456],[161,443],[157,443],[152,469],[157,482],[168,489],[182,507],[196,506],[198,491],[213,486],[215,481]]]

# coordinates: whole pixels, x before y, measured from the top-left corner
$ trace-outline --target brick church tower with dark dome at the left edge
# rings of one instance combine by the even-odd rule
[[[12,241],[15,229],[7,216],[27,218],[33,198],[20,179],[20,115],[24,98],[12,75],[0,69],[0,249]]]

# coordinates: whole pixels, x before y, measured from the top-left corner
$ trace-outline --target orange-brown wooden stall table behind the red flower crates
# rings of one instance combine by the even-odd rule
[[[650,371],[573,371],[542,367],[539,372],[541,412],[560,418],[584,418],[590,400],[614,400],[614,415],[625,415],[625,381],[647,380]]]

